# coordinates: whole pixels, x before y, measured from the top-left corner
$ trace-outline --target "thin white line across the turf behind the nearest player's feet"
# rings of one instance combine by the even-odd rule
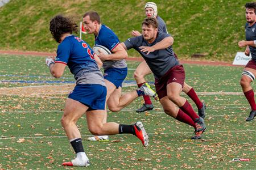
[[[248,131],[256,131],[256,130],[224,130],[224,131],[205,131],[204,133],[246,133]],[[188,134],[188,133],[193,133],[192,131],[184,131],[184,132],[168,132],[168,133],[148,133],[148,135],[165,135],[165,134]],[[117,135],[121,135],[121,134],[117,134]],[[88,134],[88,135],[81,135],[82,137],[91,137],[93,136],[92,134]],[[42,136],[42,137],[11,137],[11,138],[5,138],[5,137],[1,137],[0,140],[2,139],[19,139],[19,138],[24,138],[24,139],[36,139],[36,138],[67,138],[67,136]]]

